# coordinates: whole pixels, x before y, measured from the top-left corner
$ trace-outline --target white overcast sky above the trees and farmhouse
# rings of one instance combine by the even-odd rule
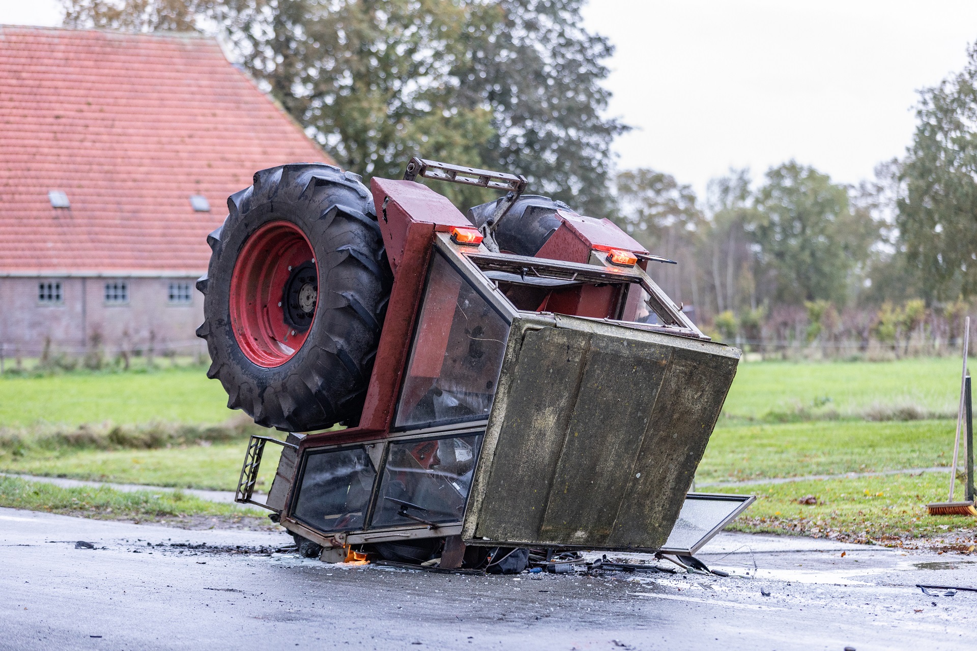
[[[0,0],[0,23],[60,20],[57,0]],[[701,192],[790,158],[871,178],[911,141],[915,91],[963,66],[977,1],[600,0],[585,21],[617,48],[610,112],[635,127],[619,166]]]

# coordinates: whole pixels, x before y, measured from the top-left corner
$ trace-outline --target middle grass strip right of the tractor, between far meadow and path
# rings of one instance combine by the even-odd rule
[[[696,478],[729,481],[950,466],[954,421],[717,427]]]

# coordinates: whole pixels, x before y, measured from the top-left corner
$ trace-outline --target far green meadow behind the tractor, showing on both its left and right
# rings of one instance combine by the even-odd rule
[[[741,363],[720,425],[827,416],[898,419],[900,409],[915,417],[953,417],[958,387],[959,360],[950,357]],[[0,427],[105,421],[216,424],[239,413],[226,405],[224,389],[206,378],[202,366],[0,376]]]

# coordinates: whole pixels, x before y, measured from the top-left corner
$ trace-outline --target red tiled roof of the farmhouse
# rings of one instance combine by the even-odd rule
[[[0,275],[200,273],[229,194],[316,160],[213,39],[0,26]]]

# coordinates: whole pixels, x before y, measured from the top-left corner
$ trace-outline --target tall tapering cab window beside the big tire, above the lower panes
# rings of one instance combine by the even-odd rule
[[[394,427],[488,418],[509,324],[440,253],[434,256]]]

